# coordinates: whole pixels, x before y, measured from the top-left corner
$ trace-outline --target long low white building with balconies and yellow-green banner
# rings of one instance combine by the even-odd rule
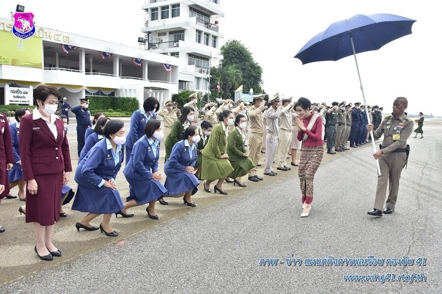
[[[154,96],[164,105],[178,93],[174,57],[40,26],[21,40],[12,26],[0,18],[0,104],[32,104],[40,84],[57,87],[71,106],[87,96],[137,97],[140,105]]]

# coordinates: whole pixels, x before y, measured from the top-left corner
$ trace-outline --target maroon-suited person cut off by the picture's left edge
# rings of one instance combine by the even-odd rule
[[[12,153],[11,133],[9,123],[5,115],[0,113],[0,202],[4,196],[9,194],[8,172],[12,169],[14,155]],[[0,225],[0,233],[4,228]]]

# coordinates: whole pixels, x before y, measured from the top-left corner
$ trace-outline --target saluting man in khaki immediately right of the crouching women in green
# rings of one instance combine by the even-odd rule
[[[258,176],[256,171],[264,134],[264,126],[262,123],[264,115],[262,114],[262,110],[267,109],[267,106],[265,106],[264,94],[254,95],[252,103],[253,106],[249,108],[248,112],[250,118],[249,158],[253,161],[254,167],[249,171],[249,180],[257,182],[263,179]]]

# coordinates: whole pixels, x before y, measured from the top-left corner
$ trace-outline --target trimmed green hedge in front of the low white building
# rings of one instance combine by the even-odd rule
[[[130,112],[132,115],[134,111],[139,109],[138,99],[135,97],[88,96],[88,98],[91,113],[113,112],[116,109],[116,112]]]

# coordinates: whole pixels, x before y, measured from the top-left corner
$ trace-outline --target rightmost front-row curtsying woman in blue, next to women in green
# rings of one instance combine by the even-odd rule
[[[198,191],[196,187],[199,185],[193,166],[196,162],[197,144],[200,139],[196,126],[189,126],[184,131],[184,140],[173,146],[170,157],[164,165],[167,189],[165,197],[184,196],[184,204],[192,207],[196,204],[193,203],[191,196]]]

